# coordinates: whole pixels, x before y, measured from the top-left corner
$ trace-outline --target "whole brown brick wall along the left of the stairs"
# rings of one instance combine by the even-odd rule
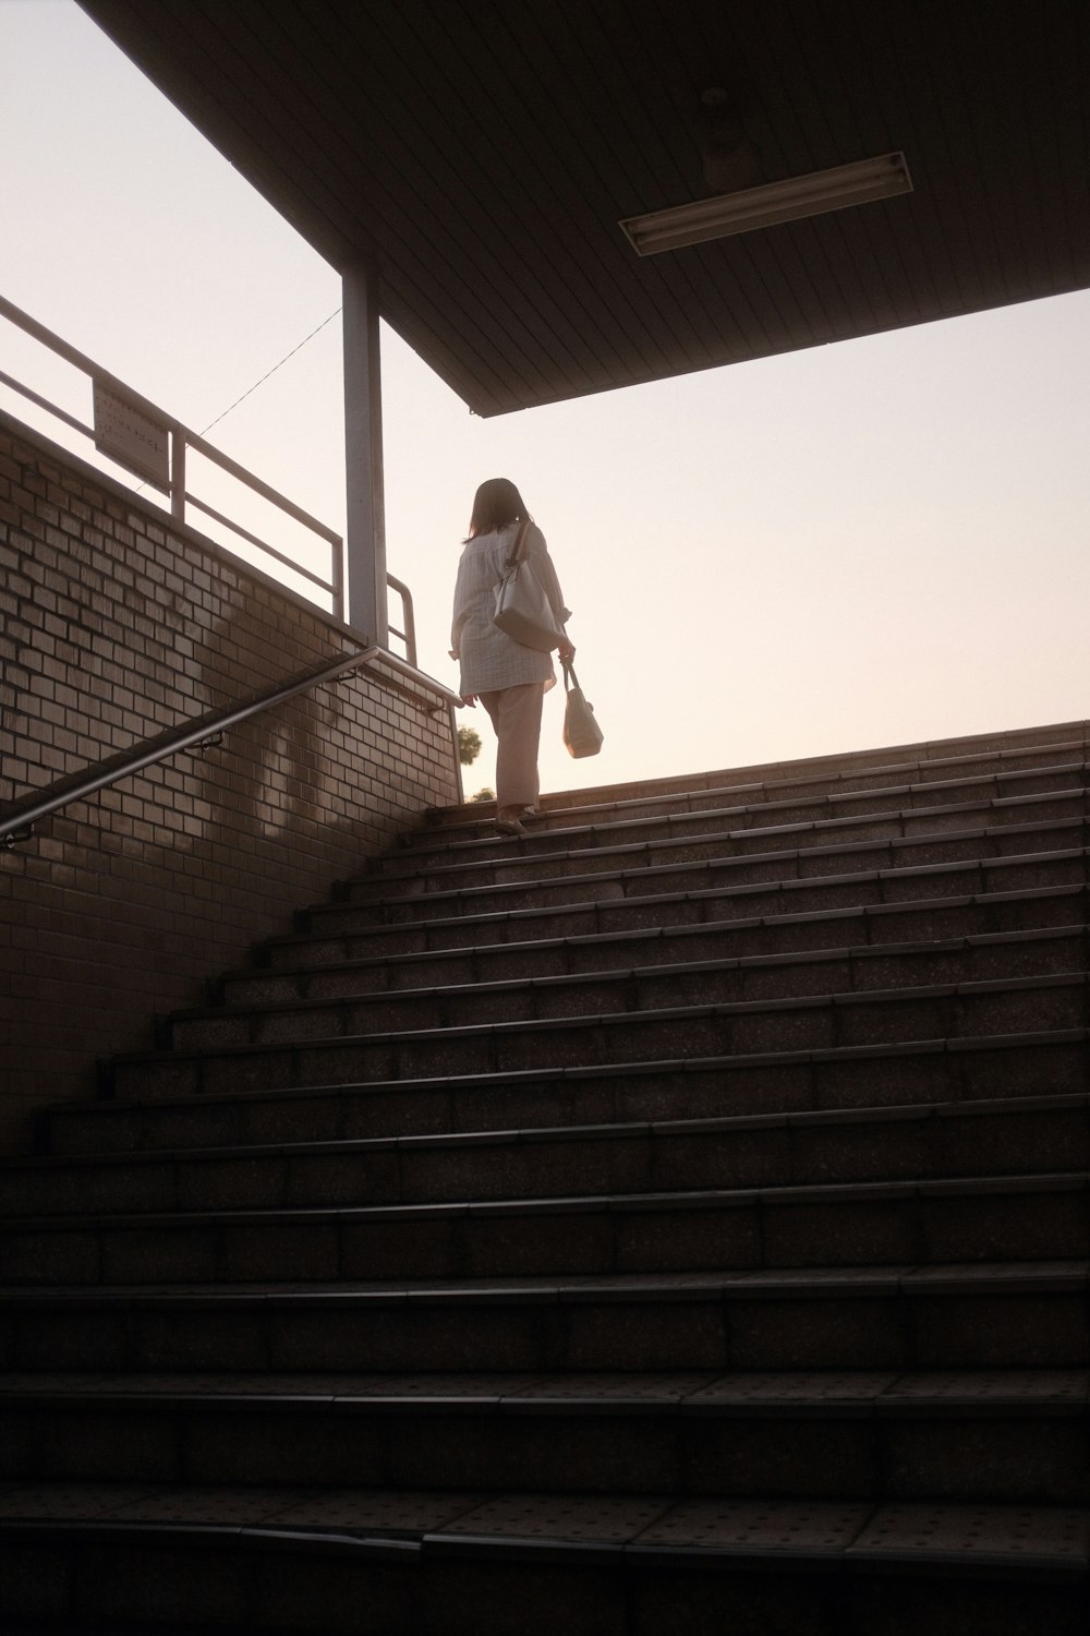
[[[0,414],[0,813],[361,646]],[[433,700],[438,703],[438,697]],[[451,723],[355,672],[0,847],[0,1148],[98,1057],[459,798]]]

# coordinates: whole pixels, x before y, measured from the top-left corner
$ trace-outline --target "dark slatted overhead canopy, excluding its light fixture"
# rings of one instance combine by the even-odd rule
[[[1090,283],[1085,0],[82,3],[484,416]],[[900,198],[618,227],[894,151]]]

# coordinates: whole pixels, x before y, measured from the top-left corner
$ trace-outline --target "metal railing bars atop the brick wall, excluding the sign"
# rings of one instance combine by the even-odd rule
[[[245,466],[240,466],[229,455],[224,455],[222,450],[216,448],[212,443],[206,443],[204,438],[199,437],[196,432],[190,432],[190,429],[185,427],[180,420],[175,420],[173,416],[165,414],[165,411],[162,411],[157,404],[150,402],[150,399],[144,398],[131,386],[126,386],[126,383],[118,380],[116,375],[111,375],[108,370],[100,368],[100,365],[95,363],[93,358],[88,358],[87,353],[78,352],[75,347],[70,347],[67,340],[64,340],[60,335],[56,335],[51,329],[46,329],[44,324],[39,324],[38,319],[29,316],[29,312],[23,312],[21,308],[16,308],[15,303],[5,299],[5,296],[0,296],[0,317],[7,317],[25,334],[31,335],[44,347],[49,347],[49,350],[54,352],[59,358],[64,358],[65,363],[70,363],[74,368],[82,370],[83,375],[88,375],[92,378],[93,384],[103,386],[108,391],[113,391],[118,396],[124,398],[129,404],[139,409],[141,414],[147,416],[149,420],[154,420],[159,427],[162,427],[165,432],[170,434],[170,478],[167,479],[167,483],[159,483],[154,478],[145,478],[145,483],[149,483],[154,489],[159,489],[160,492],[167,494],[170,501],[170,514],[176,524],[185,525],[186,504],[194,506],[198,510],[204,512],[206,517],[212,517],[226,528],[230,528],[232,533],[239,535],[239,538],[245,540],[248,545],[263,551],[266,556],[271,556],[275,561],[283,563],[284,568],[289,568],[302,579],[307,579],[310,584],[317,586],[319,591],[328,592],[333,607],[333,617],[343,620],[345,542],[342,535],[338,535],[333,528],[327,527],[324,522],[319,522],[317,517],[312,517],[309,512],[302,510],[302,507],[296,506],[294,501],[289,501],[286,494],[281,494],[278,489],[270,488],[268,483],[263,483],[252,471],[247,471]],[[82,420],[77,420],[75,416],[69,414],[65,409],[60,409],[59,404],[54,404],[47,398],[42,398],[39,393],[31,391],[29,386],[25,386],[11,375],[0,371],[0,384],[8,386],[15,393],[20,393],[29,402],[36,404],[39,409],[44,409],[47,414],[56,416],[59,420],[72,427],[82,437],[88,437],[92,438],[92,442],[95,442],[95,427],[85,425]],[[211,460],[212,465],[221,468],[221,471],[226,471],[229,476],[245,484],[261,499],[268,501],[271,506],[276,506],[278,510],[284,512],[288,517],[293,517],[297,524],[302,524],[304,528],[309,528],[312,533],[317,533],[319,538],[325,540],[327,545],[330,546],[330,578],[322,579],[320,574],[314,574],[309,568],[304,568],[302,563],[294,563],[289,556],[284,556],[275,546],[268,545],[265,540],[260,540],[257,535],[250,533],[240,524],[232,522],[230,517],[224,517],[222,512],[214,510],[204,501],[198,499],[196,494],[190,494],[186,489],[188,450],[193,450],[194,453],[203,455],[206,460]],[[109,455],[108,458],[114,460],[113,455]],[[121,465],[121,461],[114,463]],[[405,643],[405,654],[409,658],[409,664],[415,666],[417,640],[415,640],[413,617],[412,617],[412,592],[409,591],[409,586],[402,584],[400,579],[394,579],[392,574],[387,574],[387,584],[399,592],[399,596],[402,597],[402,605],[405,609],[404,615],[405,631],[394,630],[392,635],[402,638],[402,641]]]

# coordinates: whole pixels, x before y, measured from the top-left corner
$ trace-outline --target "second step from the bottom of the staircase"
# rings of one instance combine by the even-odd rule
[[[0,1484],[1087,1505],[1088,1396],[1085,1369],[10,1376]]]

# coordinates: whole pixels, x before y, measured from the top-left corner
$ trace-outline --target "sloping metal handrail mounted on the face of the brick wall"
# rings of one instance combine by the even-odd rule
[[[150,767],[157,761],[165,761],[168,756],[176,756],[180,751],[190,749],[193,744],[204,744],[209,739],[217,739],[227,731],[227,728],[237,726],[240,721],[247,721],[250,717],[260,715],[263,710],[273,710],[288,699],[294,699],[296,694],[304,694],[312,687],[320,687],[322,682],[335,681],[335,677],[343,676],[346,671],[355,671],[364,664],[374,664],[376,661],[381,661],[384,666],[399,672],[399,676],[384,676],[382,682],[387,687],[392,687],[394,692],[412,699],[413,703],[420,705],[420,708],[438,715],[443,707],[458,708],[461,705],[458,694],[453,694],[440,682],[433,682],[431,677],[422,677],[420,671],[417,671],[412,664],[407,664],[404,659],[399,659],[397,654],[387,653],[386,648],[361,648],[356,653],[342,654],[332,664],[322,664],[319,669],[304,671],[291,682],[255,694],[243,705],[227,705],[227,708],[222,710],[209,710],[206,715],[194,717],[180,728],[168,728],[155,738],[145,738],[136,746],[136,749],[121,751],[118,756],[109,756],[105,761],[96,762],[90,771],[57,779],[46,795],[21,797],[0,820],[0,843],[11,847],[18,841],[28,841],[31,838],[33,826],[41,818],[49,818],[52,813],[59,811],[62,807],[83,800],[87,795],[93,795],[96,790],[101,790],[109,784],[116,784],[119,779],[131,777],[134,772],[142,772],[144,767]],[[410,681],[427,681],[428,692],[433,697],[438,697],[441,703],[435,705],[428,702],[420,690],[405,685],[405,682],[400,681],[400,676],[405,676]]]

